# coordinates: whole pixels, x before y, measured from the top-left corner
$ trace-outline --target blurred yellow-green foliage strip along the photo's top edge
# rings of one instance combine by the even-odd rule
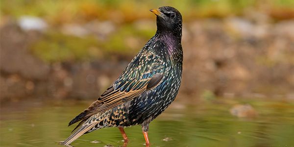
[[[162,5],[177,7],[185,19],[195,17],[225,17],[238,15],[246,8],[292,8],[294,0],[149,0],[142,4],[138,0],[4,0],[1,1],[1,15],[20,17],[33,15],[45,17],[52,24],[88,19],[113,18],[113,12],[121,13],[122,21],[149,18],[142,8],[156,8]],[[280,9],[283,11],[283,9]],[[140,11],[140,13],[137,13]],[[115,17],[114,17],[115,18]]]

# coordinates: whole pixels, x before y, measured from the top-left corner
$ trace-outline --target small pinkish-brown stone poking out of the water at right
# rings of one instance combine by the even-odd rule
[[[237,104],[230,109],[230,113],[238,118],[252,118],[257,116],[256,110],[250,104]]]

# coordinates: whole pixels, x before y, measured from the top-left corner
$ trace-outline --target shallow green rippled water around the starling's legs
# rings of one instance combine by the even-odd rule
[[[74,126],[68,122],[91,101],[24,101],[1,105],[1,147],[62,147]],[[255,118],[232,116],[236,103],[250,103]],[[141,126],[125,128],[127,147],[144,147]],[[122,147],[117,128],[81,136],[74,147]],[[172,103],[150,123],[150,147],[294,147],[294,103],[239,99]]]

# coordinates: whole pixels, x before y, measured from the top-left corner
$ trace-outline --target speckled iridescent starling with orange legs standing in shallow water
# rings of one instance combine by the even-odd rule
[[[80,122],[61,145],[106,127],[118,127],[127,143],[123,128],[140,124],[146,146],[150,144],[149,123],[175,99],[183,65],[181,13],[171,6],[150,11],[156,15],[155,35],[109,88],[69,123]]]

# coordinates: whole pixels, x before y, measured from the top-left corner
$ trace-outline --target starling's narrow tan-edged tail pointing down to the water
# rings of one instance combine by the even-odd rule
[[[74,132],[72,133],[72,135],[69,138],[67,138],[64,142],[62,142],[60,144],[64,145],[64,146],[69,146],[73,141],[75,141],[77,138],[82,136],[88,130],[93,128],[97,123],[94,123],[94,122],[88,123],[88,121],[86,121],[85,123],[80,125],[78,128],[76,128],[76,130],[74,130]]]

